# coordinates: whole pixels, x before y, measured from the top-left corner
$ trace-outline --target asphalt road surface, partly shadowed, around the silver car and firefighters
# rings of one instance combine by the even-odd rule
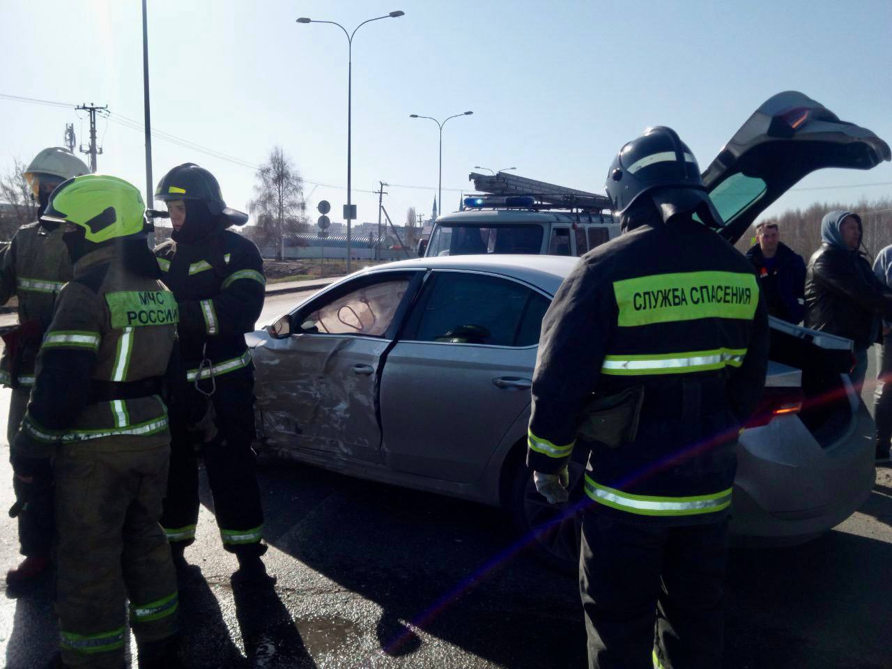
[[[261,323],[302,297],[270,297]],[[585,666],[575,579],[517,548],[498,509],[262,458],[260,486],[265,559],[277,577],[267,587],[231,581],[235,558],[220,548],[202,489],[180,582],[189,666]],[[5,485],[0,508],[11,505]],[[18,544],[5,514],[0,537],[0,564],[12,565]],[[727,669],[892,669],[890,623],[892,469],[880,469],[861,511],[822,538],[731,553]],[[10,669],[44,666],[56,633],[48,582],[0,599]]]

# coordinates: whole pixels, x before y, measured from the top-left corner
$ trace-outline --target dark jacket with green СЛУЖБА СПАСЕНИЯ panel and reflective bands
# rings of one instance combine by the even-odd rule
[[[593,393],[642,386],[635,441],[586,444],[586,493],[599,510],[641,522],[721,517],[767,351],[747,260],[693,220],[649,220],[583,256],[555,295],[533,374],[527,463],[566,467]]]

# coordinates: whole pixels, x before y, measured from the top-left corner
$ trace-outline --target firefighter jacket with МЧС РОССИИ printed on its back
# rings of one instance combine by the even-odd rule
[[[78,260],[74,274],[44,336],[17,445],[50,453],[56,443],[138,450],[168,442],[160,396],[91,402],[90,384],[164,376],[178,322],[173,293],[134,274],[113,246]]]

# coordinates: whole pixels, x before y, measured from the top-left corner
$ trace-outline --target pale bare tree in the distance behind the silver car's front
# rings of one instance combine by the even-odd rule
[[[276,244],[276,260],[282,260],[285,236],[308,229],[303,179],[281,146],[269,152],[256,177],[248,211],[257,217],[260,236]]]

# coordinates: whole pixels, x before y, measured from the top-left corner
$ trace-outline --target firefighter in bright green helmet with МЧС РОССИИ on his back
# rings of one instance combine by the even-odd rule
[[[62,183],[43,215],[62,227],[74,276],[37,355],[12,467],[27,481],[53,459],[62,666],[123,665],[126,599],[139,666],[178,665],[177,576],[158,523],[178,309],[144,214],[135,186],[87,175]]]

